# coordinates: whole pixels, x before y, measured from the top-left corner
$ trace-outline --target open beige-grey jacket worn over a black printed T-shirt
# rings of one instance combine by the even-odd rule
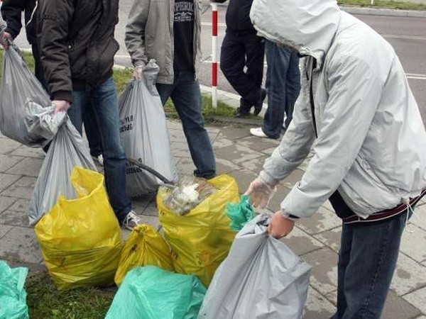
[[[201,3],[194,0],[194,68],[195,77],[201,60]],[[135,67],[155,59],[160,71],[157,82],[172,84],[174,79],[173,19],[174,0],[134,0],[126,26],[126,47]]]

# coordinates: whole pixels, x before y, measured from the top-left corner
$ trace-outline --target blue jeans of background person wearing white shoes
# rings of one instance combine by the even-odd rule
[[[280,138],[283,129],[293,119],[293,108],[300,92],[300,70],[297,52],[266,40],[266,91],[268,108],[262,130],[269,138]]]

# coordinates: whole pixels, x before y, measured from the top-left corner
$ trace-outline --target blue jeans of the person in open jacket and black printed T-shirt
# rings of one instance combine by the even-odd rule
[[[216,175],[212,143],[204,128],[200,84],[192,71],[175,71],[173,84],[157,83],[163,105],[171,97],[182,121],[183,132],[190,148],[194,174],[197,177],[212,178]]]

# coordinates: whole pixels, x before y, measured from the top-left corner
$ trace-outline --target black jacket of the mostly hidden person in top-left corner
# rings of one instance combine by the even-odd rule
[[[36,2],[35,0],[4,0],[1,4],[1,17],[7,24],[5,31],[10,33],[13,39],[21,32],[21,16],[24,11],[28,43],[31,45],[35,43],[36,14],[33,14],[33,11]]]

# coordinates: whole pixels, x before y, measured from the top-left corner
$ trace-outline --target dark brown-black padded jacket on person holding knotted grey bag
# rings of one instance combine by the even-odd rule
[[[37,40],[53,99],[72,99],[112,74],[119,0],[40,0]]]

